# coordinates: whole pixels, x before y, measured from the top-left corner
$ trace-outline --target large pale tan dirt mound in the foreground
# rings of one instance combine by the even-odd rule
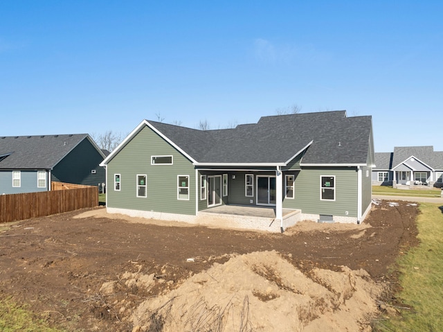
[[[364,270],[303,274],[278,252],[252,252],[147,299],[132,320],[135,331],[365,331],[382,291]]]

